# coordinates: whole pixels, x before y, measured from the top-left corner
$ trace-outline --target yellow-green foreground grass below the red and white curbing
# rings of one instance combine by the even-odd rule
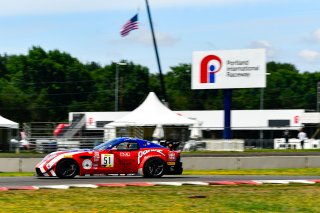
[[[319,193],[319,185],[2,191],[0,212],[320,212]]]

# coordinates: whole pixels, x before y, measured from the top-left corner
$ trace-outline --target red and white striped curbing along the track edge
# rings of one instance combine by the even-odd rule
[[[98,187],[130,187],[130,186],[210,186],[210,185],[263,185],[263,184],[316,184],[320,180],[224,180],[224,181],[181,181],[181,182],[128,182],[128,183],[97,183],[97,184],[69,184],[42,186],[5,186],[0,191],[9,190],[39,190],[39,189],[70,189],[70,188],[98,188]]]

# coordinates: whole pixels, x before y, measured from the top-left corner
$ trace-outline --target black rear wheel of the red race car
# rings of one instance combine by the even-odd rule
[[[143,165],[143,177],[159,178],[165,173],[165,162],[161,158],[150,158]]]

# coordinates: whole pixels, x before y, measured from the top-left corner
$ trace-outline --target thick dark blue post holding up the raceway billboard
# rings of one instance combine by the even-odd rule
[[[223,90],[223,103],[224,103],[224,131],[223,138],[231,139],[231,98],[232,89]]]

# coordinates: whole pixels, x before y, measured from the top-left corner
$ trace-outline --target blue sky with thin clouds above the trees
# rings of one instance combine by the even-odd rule
[[[320,71],[320,1],[149,0],[162,72],[193,51],[265,48],[267,61]],[[139,13],[139,29],[120,29]],[[0,0],[0,54],[32,46],[83,63],[132,61],[158,72],[145,0]]]

